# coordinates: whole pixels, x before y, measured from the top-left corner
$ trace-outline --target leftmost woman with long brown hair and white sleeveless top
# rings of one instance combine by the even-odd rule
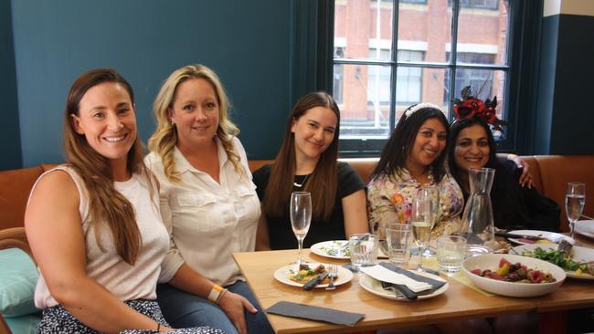
[[[41,272],[37,332],[173,330],[154,300],[157,280],[168,280],[161,270],[168,238],[133,99],[130,84],[109,68],[83,73],[69,91],[68,162],[39,177],[25,214]]]

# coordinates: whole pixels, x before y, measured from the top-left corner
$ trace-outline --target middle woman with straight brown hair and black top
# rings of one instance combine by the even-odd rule
[[[297,101],[273,165],[254,172],[262,203],[256,248],[295,248],[289,218],[293,191],[312,193],[312,224],[304,247],[368,231],[365,183],[338,158],[340,111],[332,96],[313,92]]]

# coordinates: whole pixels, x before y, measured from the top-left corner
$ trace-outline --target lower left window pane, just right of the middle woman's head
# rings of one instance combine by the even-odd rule
[[[339,103],[341,139],[385,139],[389,135],[390,68],[334,65],[342,68]],[[336,81],[334,81],[336,82]]]

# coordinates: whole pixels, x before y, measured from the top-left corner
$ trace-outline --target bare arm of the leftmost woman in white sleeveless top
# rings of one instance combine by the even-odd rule
[[[75,318],[101,332],[157,329],[154,319],[129,308],[87,276],[79,203],[70,176],[50,172],[39,180],[27,204],[27,239],[51,296]]]

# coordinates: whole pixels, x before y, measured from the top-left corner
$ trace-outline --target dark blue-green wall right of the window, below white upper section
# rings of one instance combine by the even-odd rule
[[[535,153],[594,154],[593,16],[543,19]]]

